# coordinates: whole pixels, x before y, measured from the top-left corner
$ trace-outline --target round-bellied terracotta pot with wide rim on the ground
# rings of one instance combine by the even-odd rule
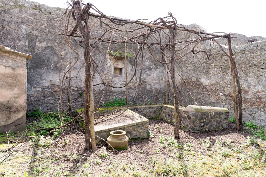
[[[109,149],[126,149],[128,146],[128,137],[126,136],[126,132],[123,130],[111,131],[110,136],[107,138],[107,143]]]

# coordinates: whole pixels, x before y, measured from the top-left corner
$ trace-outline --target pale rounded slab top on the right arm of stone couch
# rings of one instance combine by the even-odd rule
[[[211,106],[197,106],[197,105],[188,105],[184,112],[224,112],[228,113],[229,110],[222,107],[211,107]]]

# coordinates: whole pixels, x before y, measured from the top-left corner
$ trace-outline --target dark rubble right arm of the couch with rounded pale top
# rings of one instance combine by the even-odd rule
[[[192,132],[228,128],[229,110],[226,108],[189,105],[180,110],[182,112],[181,125]],[[174,106],[164,106],[159,118],[175,123]]]

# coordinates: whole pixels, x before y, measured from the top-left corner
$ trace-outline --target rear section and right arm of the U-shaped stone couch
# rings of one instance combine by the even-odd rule
[[[169,123],[175,123],[174,106],[171,105],[138,106],[129,107],[129,109],[146,118],[157,117]],[[189,105],[180,110],[182,113],[181,125],[192,132],[228,128],[229,110],[226,108]]]

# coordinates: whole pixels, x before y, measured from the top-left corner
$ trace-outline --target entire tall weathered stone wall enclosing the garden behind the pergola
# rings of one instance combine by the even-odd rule
[[[63,46],[64,37],[58,35],[62,33],[59,28],[59,20],[63,16],[64,9],[52,8],[30,1],[3,1],[0,0],[0,44],[10,47],[13,50],[18,50],[23,53],[29,53],[33,57],[27,62],[27,105],[28,110],[40,108],[42,111],[53,111],[57,109],[59,103],[59,56],[61,56],[60,70],[61,81],[63,73],[68,66],[69,56],[75,58],[74,53],[69,53],[69,49]],[[92,23],[94,21],[92,20]],[[72,21],[71,25],[74,25]],[[198,25],[192,24],[186,26],[190,29],[200,29]],[[72,29],[70,27],[70,29]],[[125,25],[122,29],[133,29],[130,25]],[[92,35],[97,36],[102,34],[99,24],[95,24],[92,29]],[[132,33],[118,32],[118,35],[131,36]],[[110,36],[110,33],[106,34]],[[232,39],[234,55],[236,56],[236,64],[238,66],[240,84],[243,89],[243,120],[254,120],[258,125],[265,126],[266,123],[266,107],[265,107],[265,38],[263,37],[246,37],[241,34],[236,34],[238,38]],[[178,32],[177,40],[181,41],[188,38],[195,38],[196,35],[191,35],[186,32]],[[247,40],[256,38],[257,41],[250,43]],[[75,38],[79,41],[79,38]],[[226,49],[226,41],[217,39]],[[250,44],[249,44],[250,43]],[[68,86],[68,81],[72,81],[72,106],[73,109],[80,108],[84,105],[84,82],[85,70],[83,59],[83,48],[74,41],[71,42],[77,52],[81,55],[76,65],[71,69],[72,74],[69,78],[65,76],[65,85]],[[181,47],[185,44],[177,45]],[[127,51],[135,54],[134,45],[128,45]],[[123,70],[122,77],[113,77],[113,64],[115,58],[107,55],[108,44],[101,44],[94,50],[93,57],[99,63],[99,68],[105,66],[104,79],[115,87],[120,87],[125,84],[125,73]],[[110,50],[124,51],[124,45],[111,45]],[[228,58],[221,52],[217,45],[210,42],[199,44],[196,50],[202,49],[208,51],[210,59],[207,59],[203,54],[189,54],[176,64],[178,74],[182,76],[180,79],[178,74],[180,90],[182,92],[181,105],[187,106],[194,104],[191,99],[192,94],[198,105],[219,106],[230,110],[230,116],[233,114],[232,101],[232,86],[229,72]],[[161,54],[157,48],[152,48],[153,55],[160,58]],[[183,53],[178,51],[177,55]],[[168,53],[169,54],[169,53]],[[74,60],[76,61],[76,60]],[[130,100],[134,97],[133,103],[148,103],[151,100],[153,103],[165,103],[165,72],[162,64],[156,62],[149,54],[148,49],[144,49],[142,70],[142,83],[138,86],[136,92],[136,83],[139,80],[139,67],[136,68],[136,75],[133,77],[132,83],[128,85]],[[125,62],[125,61],[123,61]],[[135,68],[133,66],[134,57],[127,58],[128,77],[133,76]],[[139,62],[139,61],[138,61]],[[124,63],[125,64],[125,63]],[[103,70],[99,70],[103,74]],[[94,84],[102,82],[99,75],[95,75]],[[187,88],[190,90],[188,92]],[[125,98],[125,88],[114,89],[111,87],[103,87],[98,85],[94,87],[94,95],[97,100],[100,100],[103,94],[102,101],[111,100],[115,97]],[[170,90],[172,92],[172,90]],[[99,94],[98,94],[99,93]],[[98,95],[98,96],[97,96]],[[66,90],[63,88],[62,102],[66,103]],[[171,93],[171,101],[173,95]],[[181,99],[181,98],[180,98]]]

